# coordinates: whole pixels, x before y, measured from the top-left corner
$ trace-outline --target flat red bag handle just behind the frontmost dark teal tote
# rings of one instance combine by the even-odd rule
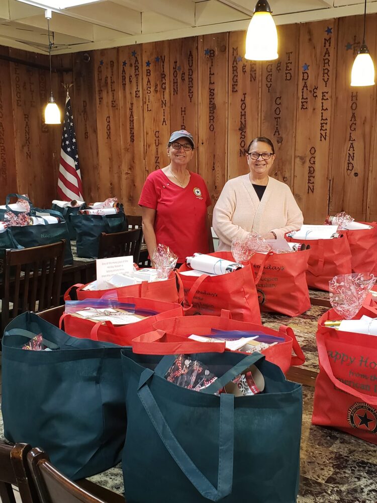
[[[132,351],[142,355],[179,355],[181,353],[224,353],[225,342],[201,343],[187,337],[152,330],[132,340]]]

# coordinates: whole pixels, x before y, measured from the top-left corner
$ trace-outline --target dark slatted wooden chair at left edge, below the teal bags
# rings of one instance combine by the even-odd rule
[[[65,240],[44,246],[8,250],[4,259],[2,329],[18,314],[59,305]],[[13,303],[10,309],[9,303]]]

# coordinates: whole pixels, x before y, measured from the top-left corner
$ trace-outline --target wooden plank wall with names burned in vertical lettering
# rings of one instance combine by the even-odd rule
[[[366,41],[377,62],[377,15]],[[252,138],[275,145],[271,176],[287,183],[307,223],[328,213],[377,220],[376,86],[351,88],[362,17],[278,26],[279,58],[244,59],[244,32],[54,56],[53,91],[70,88],[85,199],[118,196],[139,214],[145,178],[167,164],[170,132],[193,133],[190,169],[215,204],[224,183],[247,173]],[[0,200],[28,192],[39,206],[56,197],[61,127],[45,126],[44,56],[0,47]]]

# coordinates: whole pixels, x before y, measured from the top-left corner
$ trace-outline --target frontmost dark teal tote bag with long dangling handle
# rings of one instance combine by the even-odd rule
[[[175,356],[122,350],[128,411],[122,456],[126,500],[295,503],[301,385],[286,381],[259,353],[187,358],[217,376],[213,384],[201,391],[180,387],[164,377]],[[214,394],[251,365],[264,377],[262,393],[237,398]]]

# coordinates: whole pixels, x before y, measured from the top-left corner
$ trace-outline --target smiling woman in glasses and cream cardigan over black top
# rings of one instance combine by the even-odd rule
[[[288,185],[268,176],[275,160],[271,140],[254,138],[246,152],[250,173],[225,184],[213,211],[219,251],[230,250],[234,237],[242,239],[251,231],[265,239],[283,238],[304,221]]]

